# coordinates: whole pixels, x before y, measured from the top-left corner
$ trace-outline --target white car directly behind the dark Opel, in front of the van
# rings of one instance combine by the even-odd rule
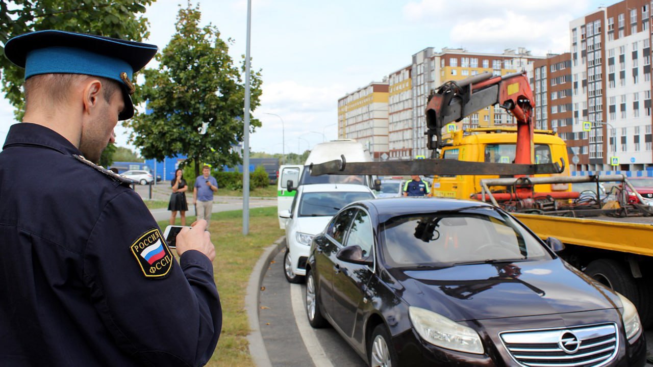
[[[370,187],[352,183],[315,183],[300,185],[290,210],[282,210],[285,218],[286,252],[283,268],[290,283],[304,281],[313,236],[322,232],[338,210],[350,202],[374,199]]]

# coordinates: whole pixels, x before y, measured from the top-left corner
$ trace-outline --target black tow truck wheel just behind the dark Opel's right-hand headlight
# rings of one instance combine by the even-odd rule
[[[611,259],[599,259],[592,261],[585,269],[585,274],[592,277],[599,283],[621,293],[633,302],[637,311],[643,310],[648,305],[642,304],[639,296],[639,287],[635,278],[630,275],[628,268],[618,261]],[[641,317],[641,313],[640,313]]]

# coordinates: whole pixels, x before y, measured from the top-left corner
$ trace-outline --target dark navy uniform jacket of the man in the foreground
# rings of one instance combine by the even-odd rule
[[[0,152],[0,366],[198,366],[222,325],[211,261],[179,263],[140,197],[54,131]]]

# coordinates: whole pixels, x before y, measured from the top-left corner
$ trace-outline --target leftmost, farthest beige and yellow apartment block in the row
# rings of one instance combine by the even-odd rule
[[[372,82],[338,99],[338,138],[367,146],[374,159],[388,157],[388,82]]]

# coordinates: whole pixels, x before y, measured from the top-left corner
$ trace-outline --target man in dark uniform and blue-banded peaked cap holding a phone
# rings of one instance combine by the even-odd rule
[[[156,52],[62,31],[5,44],[26,104],[0,153],[0,366],[200,366],[214,352],[206,221],[180,232],[177,262],[129,180],[92,163]]]

